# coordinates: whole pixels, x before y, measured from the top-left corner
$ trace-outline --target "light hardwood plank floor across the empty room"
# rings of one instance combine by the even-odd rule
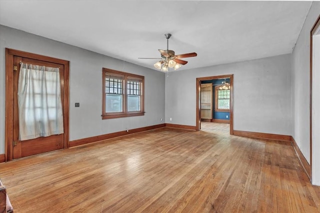
[[[319,212],[290,144],[159,128],[0,164],[14,212]]]

